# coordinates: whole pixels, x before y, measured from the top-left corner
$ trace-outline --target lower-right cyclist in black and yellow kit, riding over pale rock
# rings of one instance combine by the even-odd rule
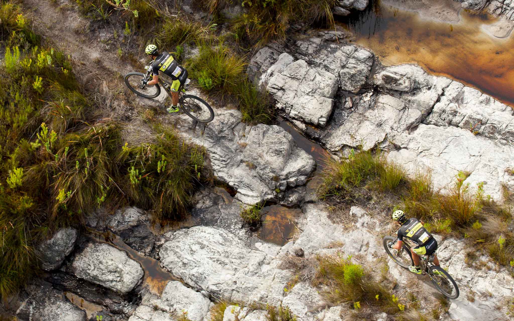
[[[412,240],[417,246],[411,248],[412,260],[414,261],[414,266],[409,267],[409,271],[421,274],[421,269],[419,268],[419,255],[433,255],[433,263],[436,266],[439,266],[439,260],[437,259],[437,255],[435,255],[435,250],[437,250],[437,241],[424,227],[423,222],[418,220],[417,218],[409,218],[405,216],[405,213],[401,210],[394,211],[393,220],[400,225],[400,229],[398,230],[398,241],[396,244],[389,244],[390,248],[395,250],[400,250],[402,246],[403,237],[407,237]],[[439,271],[434,270],[435,274],[439,274]]]

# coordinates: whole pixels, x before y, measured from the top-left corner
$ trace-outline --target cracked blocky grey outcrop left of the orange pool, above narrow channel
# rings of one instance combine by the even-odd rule
[[[304,59],[289,53],[276,56],[276,51],[264,49],[260,65],[274,63],[256,82],[266,84],[286,117],[324,127],[332,115],[338,87],[359,92],[368,82],[374,55],[356,46],[320,45],[321,41],[297,42]]]

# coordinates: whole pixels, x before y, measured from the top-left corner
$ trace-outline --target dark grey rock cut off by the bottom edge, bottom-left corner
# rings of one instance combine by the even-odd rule
[[[70,303],[64,293],[51,288],[47,282],[30,285],[16,303],[16,317],[38,321],[86,321],[86,312]]]

